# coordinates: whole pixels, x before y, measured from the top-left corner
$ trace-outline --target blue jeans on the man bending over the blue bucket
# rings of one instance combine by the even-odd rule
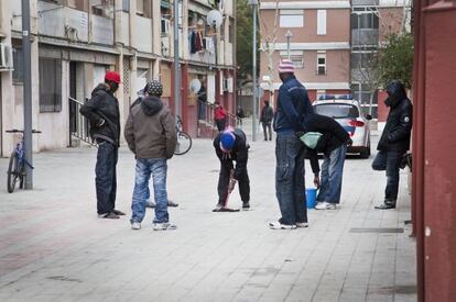
[[[328,156],[324,155],[322,165],[322,187],[319,188],[317,201],[326,201],[329,203],[340,202],[346,153],[347,146],[341,145],[329,153]]]

